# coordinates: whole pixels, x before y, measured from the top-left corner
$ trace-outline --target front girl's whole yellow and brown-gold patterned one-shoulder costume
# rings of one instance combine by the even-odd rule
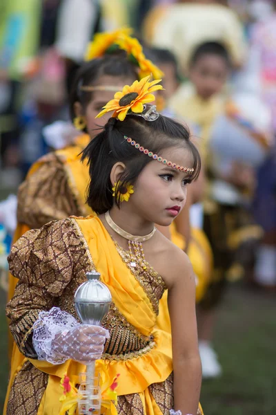
[[[97,217],[63,219],[30,230],[14,244],[9,262],[19,283],[7,314],[26,358],[10,380],[7,415],[59,414],[59,382],[64,372],[78,384],[78,374],[84,370],[79,363],[68,360],[51,365],[36,359],[32,326],[39,312],[52,306],[77,318],[74,294],[89,270],[101,273],[112,294],[103,321],[110,339],[96,362],[102,386],[111,385],[120,374],[119,415],[169,414],[173,408],[171,338],[156,326],[166,285],[149,264],[145,269],[136,257],[133,264],[129,252],[118,246]]]

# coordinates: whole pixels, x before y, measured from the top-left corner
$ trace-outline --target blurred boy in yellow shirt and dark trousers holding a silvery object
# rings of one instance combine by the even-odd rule
[[[169,102],[179,116],[197,126],[208,177],[204,230],[213,249],[214,270],[197,310],[199,351],[206,378],[221,374],[212,340],[226,277],[234,279],[243,274],[237,250],[261,235],[245,205],[250,205],[254,169],[264,158],[262,143],[266,137],[252,124],[250,111],[246,113],[246,100],[227,96],[230,73],[230,57],[224,45],[201,44],[190,59],[190,82],[180,86]],[[263,107],[258,108],[263,113]]]

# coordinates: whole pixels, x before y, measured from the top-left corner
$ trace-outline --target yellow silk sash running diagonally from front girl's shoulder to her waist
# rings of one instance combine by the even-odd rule
[[[148,385],[163,382],[172,372],[170,333],[156,326],[156,315],[144,289],[119,256],[115,243],[98,218],[75,219],[81,229],[101,280],[108,286],[119,312],[144,335],[153,335],[155,347],[129,360],[99,360],[99,370],[108,381],[119,378],[118,395],[144,391]]]

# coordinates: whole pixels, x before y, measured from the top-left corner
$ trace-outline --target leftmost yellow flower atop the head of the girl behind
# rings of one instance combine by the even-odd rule
[[[130,33],[132,33],[131,28],[120,28],[113,32],[96,33],[93,41],[88,44],[84,60],[90,61],[96,57],[101,57],[110,46],[117,44],[121,37],[128,36]]]

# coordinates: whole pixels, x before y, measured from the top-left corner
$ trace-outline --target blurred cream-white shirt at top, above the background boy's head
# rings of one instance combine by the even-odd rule
[[[234,66],[241,66],[246,50],[243,27],[221,1],[179,0],[159,17],[152,35],[154,46],[175,53],[184,75],[195,47],[208,41],[224,43]]]

